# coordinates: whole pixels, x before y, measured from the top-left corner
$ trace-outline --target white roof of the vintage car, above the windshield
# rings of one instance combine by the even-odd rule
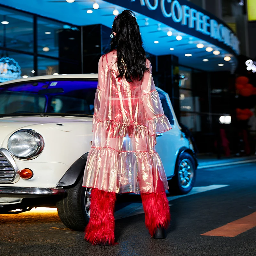
[[[15,80],[10,80],[4,83],[0,83],[0,86],[5,84],[12,84],[12,83],[20,83],[20,82],[29,82],[29,81],[36,81],[36,80],[44,80],[44,79],[69,79],[69,78],[92,78],[97,79],[98,74],[67,74],[67,75],[46,75],[46,76],[31,76],[28,78],[20,78]],[[167,94],[162,89],[156,87],[157,91]]]

